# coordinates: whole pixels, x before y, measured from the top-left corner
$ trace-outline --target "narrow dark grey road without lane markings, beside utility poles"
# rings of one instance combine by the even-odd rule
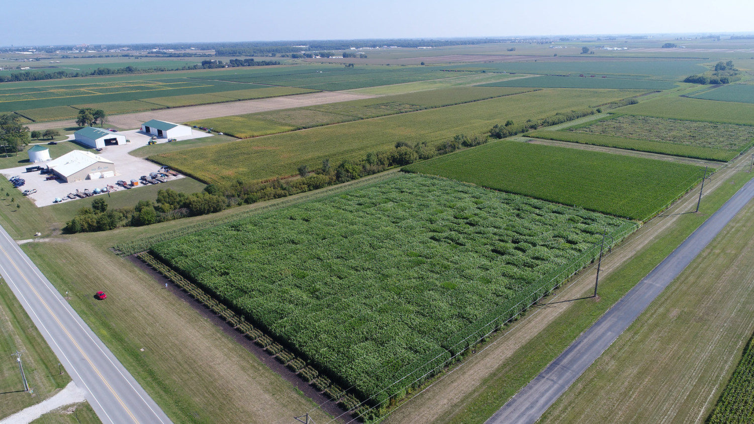
[[[488,423],[535,422],[605,352],[720,230],[754,198],[754,180],[697,228],[661,264],[495,413]]]

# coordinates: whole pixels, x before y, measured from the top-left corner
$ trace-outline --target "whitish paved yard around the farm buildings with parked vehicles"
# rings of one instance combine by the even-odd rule
[[[73,202],[75,200],[78,200],[78,197],[76,197],[75,200],[69,200],[66,197],[66,195],[69,193],[75,194],[77,190],[81,192],[86,189],[93,191],[94,188],[99,188],[100,190],[102,190],[108,185],[115,186],[116,191],[126,190],[125,188],[122,188],[115,183],[118,180],[138,180],[142,175],[149,176],[149,172],[156,172],[160,168],[160,166],[156,163],[150,162],[149,160],[140,157],[134,157],[129,154],[130,151],[147,145],[150,136],[141,133],[139,130],[123,131],[121,132],[121,134],[124,134],[130,142],[125,145],[107,146],[103,149],[103,151],[97,153],[101,157],[104,157],[107,160],[112,160],[115,163],[115,176],[113,177],[63,182],[61,180],[48,181],[45,179],[47,178],[48,174],[42,174],[39,171],[26,172],[26,168],[29,166],[38,165],[44,167],[44,162],[27,163],[24,166],[0,169],[0,174],[5,175],[6,178],[11,178],[12,176],[18,175],[21,178],[25,179],[26,184],[21,186],[19,188],[19,191],[35,189],[37,192],[30,194],[29,199],[31,199],[32,202],[34,202],[38,207],[51,205],[54,203],[54,200],[56,198],[62,199],[63,202]],[[198,139],[207,136],[212,136],[212,134],[204,133],[198,130],[192,130],[191,136],[178,137],[177,139],[180,141]],[[73,136],[69,136],[69,139],[63,143],[72,143],[74,142],[72,141],[72,139]],[[158,139],[157,142],[165,143],[167,142],[167,139]],[[168,179],[173,180],[176,178],[183,178],[183,175],[169,177]],[[140,187],[143,187],[143,185],[139,184],[138,186],[132,188],[132,190],[138,189]]]

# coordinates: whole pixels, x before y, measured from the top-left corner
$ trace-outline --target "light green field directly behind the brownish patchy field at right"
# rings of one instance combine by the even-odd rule
[[[625,114],[754,125],[754,105],[669,96],[621,108]]]

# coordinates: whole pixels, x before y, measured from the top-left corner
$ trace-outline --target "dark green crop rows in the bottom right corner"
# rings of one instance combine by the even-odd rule
[[[733,372],[731,380],[723,389],[722,394],[710,414],[710,422],[734,422],[745,420],[754,415],[754,337],[743,349],[738,366]]]

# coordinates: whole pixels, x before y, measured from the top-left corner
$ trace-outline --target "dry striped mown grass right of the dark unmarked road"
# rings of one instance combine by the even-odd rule
[[[748,422],[754,407],[752,349],[746,345],[754,331],[752,212],[749,204],[542,421],[630,416],[637,422],[705,422],[712,411],[708,422]]]

